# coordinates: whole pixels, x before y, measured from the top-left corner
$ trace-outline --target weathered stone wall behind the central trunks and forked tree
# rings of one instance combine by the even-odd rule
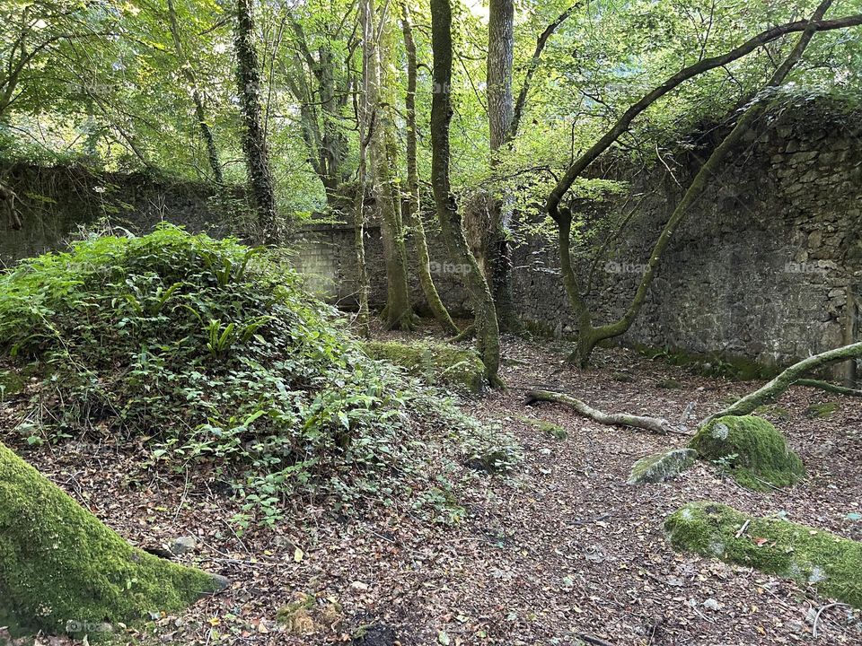
[[[664,254],[647,301],[621,341],[691,353],[723,353],[764,364],[786,363],[859,338],[862,303],[862,115],[816,103],[764,119],[709,183]],[[704,159],[709,151],[699,150]],[[596,322],[617,319],[635,292],[643,264],[698,163],[678,159],[635,179],[654,191],[643,214],[598,264],[589,296]],[[673,165],[673,162],[672,162]],[[618,175],[624,174],[617,170]],[[613,208],[621,205],[611,205]],[[356,289],[353,231],[315,231],[330,261],[330,297],[351,302]],[[314,241],[316,240],[316,241]],[[429,231],[438,290],[454,315],[468,312],[461,276]],[[372,303],[385,301],[379,231],[368,231]],[[415,254],[409,240],[411,254]],[[564,336],[574,321],[556,245],[538,237],[515,249],[519,314]],[[585,275],[587,259],[580,273]],[[419,308],[424,307],[415,269]]]

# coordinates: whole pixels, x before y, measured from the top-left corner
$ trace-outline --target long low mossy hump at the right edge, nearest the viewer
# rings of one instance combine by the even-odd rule
[[[677,549],[785,576],[862,607],[858,541],[784,519],[752,518],[716,502],[690,502],[664,528]]]

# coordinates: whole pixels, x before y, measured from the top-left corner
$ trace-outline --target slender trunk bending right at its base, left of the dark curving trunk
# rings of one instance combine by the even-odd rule
[[[457,335],[459,330],[446,306],[440,299],[440,294],[434,286],[431,276],[430,258],[428,258],[428,243],[425,237],[425,226],[419,210],[419,172],[417,165],[417,134],[416,134],[416,42],[413,39],[413,25],[410,22],[410,10],[405,0],[401,1],[401,31],[404,33],[404,49],[407,52],[407,95],[404,99],[407,120],[407,187],[409,203],[407,208],[409,225],[413,230],[418,252],[419,283],[428,301],[428,308],[443,331],[448,335]]]

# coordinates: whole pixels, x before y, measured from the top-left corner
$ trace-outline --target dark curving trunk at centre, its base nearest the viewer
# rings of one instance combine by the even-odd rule
[[[492,385],[501,385],[500,331],[488,283],[479,271],[458,212],[449,180],[449,122],[452,119],[452,5],[431,0],[431,42],[434,49],[434,95],[431,100],[431,183],[440,229],[453,261],[464,270],[464,284],[475,313],[476,342]]]

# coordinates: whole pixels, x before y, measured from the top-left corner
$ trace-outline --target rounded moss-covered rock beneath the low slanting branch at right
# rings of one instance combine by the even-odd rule
[[[805,476],[802,460],[761,417],[718,417],[702,426],[689,446],[750,489],[793,485]]]

